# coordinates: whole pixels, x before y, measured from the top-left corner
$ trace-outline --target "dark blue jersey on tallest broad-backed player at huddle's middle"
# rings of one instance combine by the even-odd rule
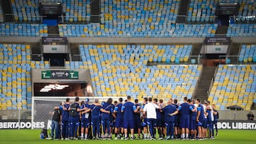
[[[132,102],[126,102],[122,106],[122,111],[124,111],[124,120],[125,121],[134,121],[134,110],[136,109],[135,105]]]

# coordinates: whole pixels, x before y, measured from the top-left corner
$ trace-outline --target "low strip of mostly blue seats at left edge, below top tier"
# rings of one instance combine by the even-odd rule
[[[0,23],[0,29],[0,36],[48,36],[45,24]]]

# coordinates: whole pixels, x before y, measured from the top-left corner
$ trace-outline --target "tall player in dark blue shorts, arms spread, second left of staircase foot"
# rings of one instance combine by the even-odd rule
[[[178,106],[178,111],[181,112],[181,139],[188,140],[188,128],[189,128],[189,113],[190,111],[194,111],[191,105],[188,104],[188,98],[183,98],[183,103]],[[185,137],[186,134],[186,137]]]

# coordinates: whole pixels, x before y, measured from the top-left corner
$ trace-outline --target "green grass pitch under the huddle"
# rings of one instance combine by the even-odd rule
[[[1,130],[0,144],[41,144],[41,143],[75,143],[75,144],[167,144],[167,143],[209,143],[209,144],[250,144],[256,143],[254,130],[220,130],[215,140],[41,140],[41,130]]]

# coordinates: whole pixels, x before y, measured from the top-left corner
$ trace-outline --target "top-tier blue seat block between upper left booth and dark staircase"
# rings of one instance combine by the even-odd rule
[[[70,23],[90,21],[90,0],[44,0],[43,2],[63,4],[64,21]]]

